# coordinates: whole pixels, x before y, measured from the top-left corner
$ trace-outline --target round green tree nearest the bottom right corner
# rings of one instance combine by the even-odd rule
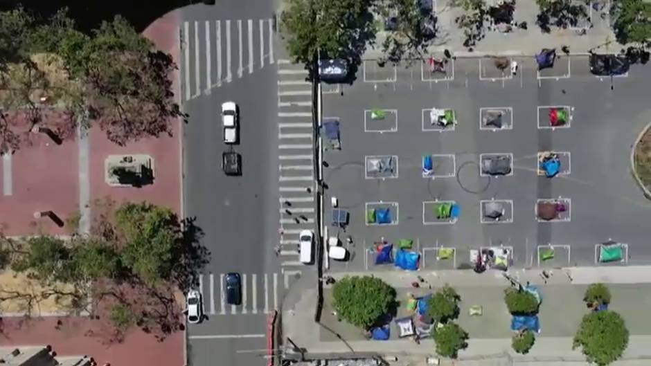
[[[581,347],[589,363],[605,366],[622,356],[628,346],[628,336],[618,313],[597,311],[583,316],[572,347]]]

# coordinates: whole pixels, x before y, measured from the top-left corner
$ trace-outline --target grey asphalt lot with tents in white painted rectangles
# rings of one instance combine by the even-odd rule
[[[331,268],[393,270],[375,264],[375,246],[399,239],[428,270],[467,267],[470,250],[495,246],[519,267],[606,265],[595,253],[609,239],[627,244],[616,265],[651,262],[651,205],[630,173],[632,143],[651,120],[640,98],[651,73],[635,65],[596,77],[585,56],[544,71],[532,57],[511,60],[516,75],[491,58],[449,60],[436,73],[427,60],[366,61],[353,86],[324,88],[337,93],[324,93],[323,116],[341,129],[341,150],[324,154],[325,217],[333,196],[350,212],[345,232],[328,235],[352,254]],[[548,154],[560,162],[552,178],[539,165]],[[483,161],[499,157],[508,171],[485,173]],[[544,217],[550,207],[558,212]]]

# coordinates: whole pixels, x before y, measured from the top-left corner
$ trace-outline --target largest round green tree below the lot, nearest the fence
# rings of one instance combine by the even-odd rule
[[[395,290],[379,278],[344,277],[332,287],[332,307],[339,316],[364,330],[371,328],[395,304]]]

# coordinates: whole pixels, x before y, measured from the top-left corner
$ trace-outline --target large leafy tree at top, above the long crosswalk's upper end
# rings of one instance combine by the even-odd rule
[[[372,6],[373,0],[289,0],[280,15],[289,56],[307,66],[317,53],[359,62],[375,37]]]

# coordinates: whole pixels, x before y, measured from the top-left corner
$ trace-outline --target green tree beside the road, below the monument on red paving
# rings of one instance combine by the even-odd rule
[[[115,219],[124,240],[122,263],[145,283],[169,280],[180,235],[174,212],[145,202],[125,203]]]

